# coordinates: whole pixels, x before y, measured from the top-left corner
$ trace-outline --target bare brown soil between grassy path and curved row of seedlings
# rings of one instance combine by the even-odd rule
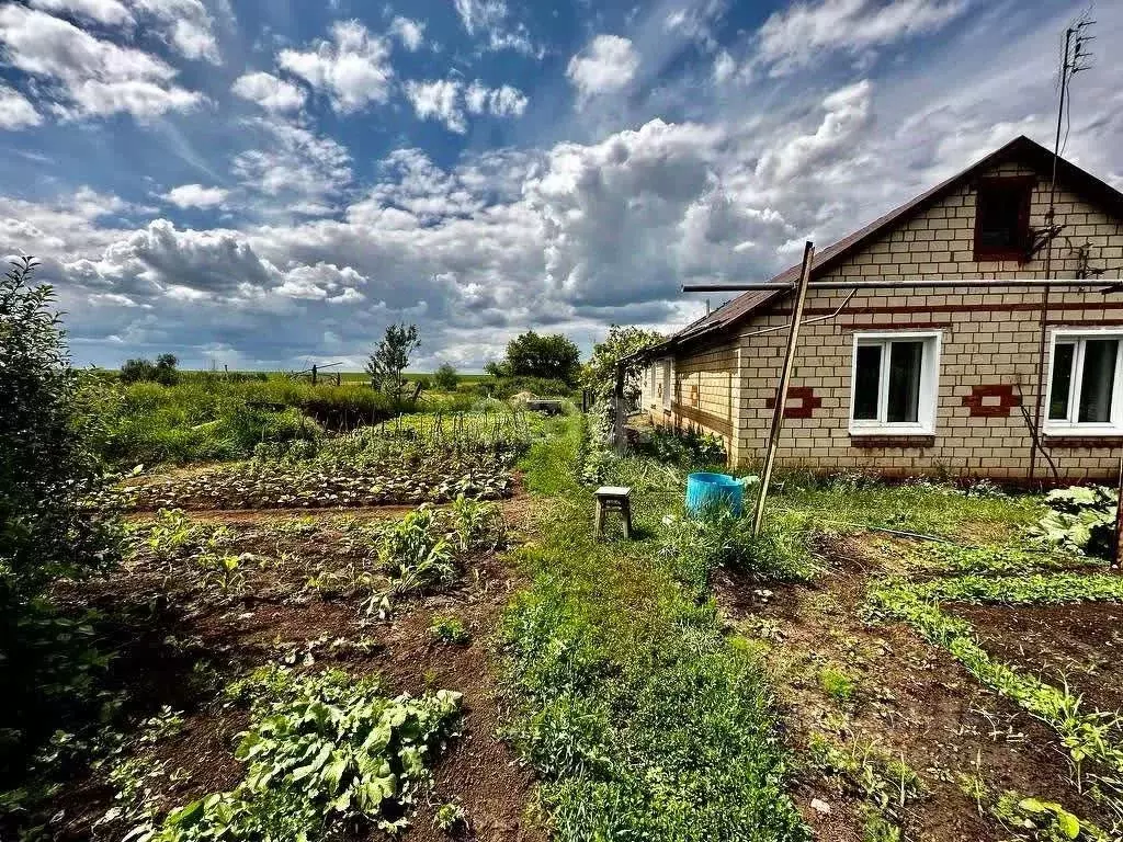
[[[727,571],[715,583],[730,621],[769,643],[786,736],[797,754],[806,757],[809,738],[818,732],[858,751],[873,747],[903,759],[928,790],[903,811],[905,840],[1007,839],[965,793],[976,777],[995,795],[1014,789],[1110,825],[1074,785],[1052,729],[988,692],[907,625],[862,620],[876,564],[860,546],[842,543],[825,556],[831,567],[814,586],[761,586]],[[821,688],[819,674],[828,665],[855,676],[851,701],[836,701]],[[795,797],[816,839],[864,838],[856,794],[838,791],[805,768]]]

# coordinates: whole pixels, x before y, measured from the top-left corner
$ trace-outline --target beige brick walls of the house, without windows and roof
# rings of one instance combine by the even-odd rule
[[[988,175],[1028,172],[1006,165]],[[1032,196],[1031,227],[1044,226],[1047,209],[1048,180],[1039,179]],[[1120,220],[1108,218],[1063,190],[1058,191],[1057,213],[1058,223],[1065,228],[1053,247],[1056,276],[1075,276],[1084,259],[1093,267],[1123,264]],[[1044,277],[1043,254],[1024,264],[976,263],[974,232],[975,193],[965,186],[851,256],[822,280]],[[1081,248],[1086,258],[1079,254]],[[1119,274],[1114,271],[1105,277]],[[848,294],[812,291],[807,315],[833,312]],[[789,399],[778,464],[823,470],[866,469],[888,475],[1025,477],[1031,440],[1020,404],[1032,417],[1041,299],[1040,291],[1024,287],[986,294],[971,292],[969,286],[859,290],[838,318],[806,326],[801,331],[792,386],[812,394],[815,405],[811,412],[793,413],[792,409],[803,403]],[[1123,332],[1123,294],[1105,296],[1099,292],[1054,290],[1050,303],[1051,326],[1121,326]],[[720,401],[719,394],[736,393],[730,449],[738,464],[763,459],[772,419],[769,408],[786,344],[785,331],[746,335],[763,327],[786,324],[788,318],[783,309],[758,315],[743,324],[741,335],[728,340],[723,350],[711,348],[677,363],[682,372],[710,384],[701,390],[707,394],[704,400]],[[848,427],[855,333],[907,329],[941,333],[935,434],[904,440],[852,439]],[[729,370],[738,350],[745,360],[740,387],[722,392],[718,387],[720,376]],[[703,373],[709,379],[703,378]],[[1051,457],[1062,479],[1116,476],[1119,457],[1123,455],[1120,439],[1056,439],[1053,443]],[[1040,456],[1038,464],[1038,477],[1048,477],[1050,470]]]

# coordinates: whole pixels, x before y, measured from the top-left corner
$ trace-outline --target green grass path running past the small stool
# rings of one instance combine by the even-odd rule
[[[639,540],[596,540],[574,472],[579,417],[523,460],[538,495],[533,577],[502,624],[512,740],[559,840],[804,840],[763,669],[663,552],[675,504],[638,496]]]

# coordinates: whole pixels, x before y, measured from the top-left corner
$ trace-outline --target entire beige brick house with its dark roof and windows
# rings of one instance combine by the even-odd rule
[[[778,466],[1117,478],[1123,292],[1111,285],[1123,266],[1123,193],[1059,159],[1050,226],[1052,172],[1052,153],[1020,137],[816,253]],[[796,266],[769,283],[798,277]],[[1015,278],[1087,283],[994,285]],[[814,286],[917,280],[957,283]],[[734,466],[759,463],[794,298],[746,292],[651,349],[642,409],[656,423],[720,436]]]

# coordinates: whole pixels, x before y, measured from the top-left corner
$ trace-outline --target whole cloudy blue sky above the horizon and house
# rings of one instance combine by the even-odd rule
[[[1016,135],[1083,4],[8,0],[0,254],[80,364],[477,370],[527,328],[672,329]],[[1123,4],[1066,154],[1123,185]],[[716,303],[716,302],[714,302]]]

